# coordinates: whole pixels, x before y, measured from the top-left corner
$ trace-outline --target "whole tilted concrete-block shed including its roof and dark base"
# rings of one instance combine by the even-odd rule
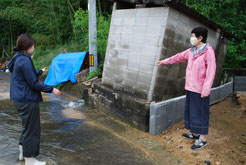
[[[186,63],[159,67],[156,62],[189,48],[191,30],[207,27],[208,42],[216,52],[217,86],[228,40],[218,25],[175,0],[115,1],[102,81],[83,95],[93,108],[147,132],[150,104],[184,94]],[[146,4],[136,8],[139,5],[134,3],[143,1]],[[179,121],[184,97],[181,100],[182,104],[166,103],[169,108],[158,111],[160,119],[168,125]],[[162,109],[161,103],[157,105]],[[158,122],[154,123],[158,126]]]

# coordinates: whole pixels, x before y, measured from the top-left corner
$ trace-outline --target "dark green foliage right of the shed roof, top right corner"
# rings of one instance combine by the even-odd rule
[[[228,44],[224,67],[246,67],[246,1],[245,0],[181,0],[202,15],[235,35]]]

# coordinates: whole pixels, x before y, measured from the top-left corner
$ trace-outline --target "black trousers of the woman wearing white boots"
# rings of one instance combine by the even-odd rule
[[[19,144],[23,146],[24,157],[39,155],[40,146],[40,111],[37,102],[15,102],[22,119],[22,132]]]

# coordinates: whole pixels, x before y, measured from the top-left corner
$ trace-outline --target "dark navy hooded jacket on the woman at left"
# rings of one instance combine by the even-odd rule
[[[41,92],[51,93],[53,87],[38,81],[42,70],[36,71],[30,54],[17,52],[8,63],[11,74],[10,99],[18,102],[43,101]]]

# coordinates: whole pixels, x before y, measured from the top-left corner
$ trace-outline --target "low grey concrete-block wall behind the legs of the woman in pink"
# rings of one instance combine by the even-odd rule
[[[233,82],[213,88],[210,105],[223,100],[233,92]],[[157,135],[184,117],[185,96],[176,97],[150,105],[149,133]]]

